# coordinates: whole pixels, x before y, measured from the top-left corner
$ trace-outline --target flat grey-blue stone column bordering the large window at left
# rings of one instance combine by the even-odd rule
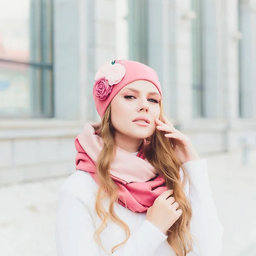
[[[56,0],[53,69],[57,119],[80,119],[79,60],[79,1]]]

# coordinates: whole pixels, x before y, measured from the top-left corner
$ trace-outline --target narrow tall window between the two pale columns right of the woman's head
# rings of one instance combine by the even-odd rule
[[[192,102],[193,116],[203,116],[201,1],[192,0],[192,10],[197,18],[192,21]]]

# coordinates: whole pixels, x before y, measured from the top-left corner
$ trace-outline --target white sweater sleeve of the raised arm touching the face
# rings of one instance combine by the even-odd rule
[[[211,194],[207,160],[190,161],[183,167],[189,177],[189,201],[192,206],[190,233],[194,241],[188,256],[219,256],[223,227]]]

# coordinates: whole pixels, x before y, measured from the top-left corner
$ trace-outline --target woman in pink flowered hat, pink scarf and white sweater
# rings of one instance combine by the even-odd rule
[[[156,72],[106,62],[93,98],[101,123],[76,137],[59,192],[59,256],[218,256],[222,226],[207,162],[163,114]]]

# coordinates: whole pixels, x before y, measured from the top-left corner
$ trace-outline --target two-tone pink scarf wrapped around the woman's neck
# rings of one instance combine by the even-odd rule
[[[88,172],[99,184],[96,175],[96,160],[103,148],[103,140],[96,135],[93,126],[86,124],[84,130],[75,139],[76,170]],[[133,212],[145,212],[151,207],[155,199],[168,190],[165,180],[145,159],[142,150],[137,156],[117,147],[116,155],[110,166],[110,175],[119,186],[118,203]],[[156,177],[157,176],[157,177]],[[156,177],[154,180],[150,179]]]

